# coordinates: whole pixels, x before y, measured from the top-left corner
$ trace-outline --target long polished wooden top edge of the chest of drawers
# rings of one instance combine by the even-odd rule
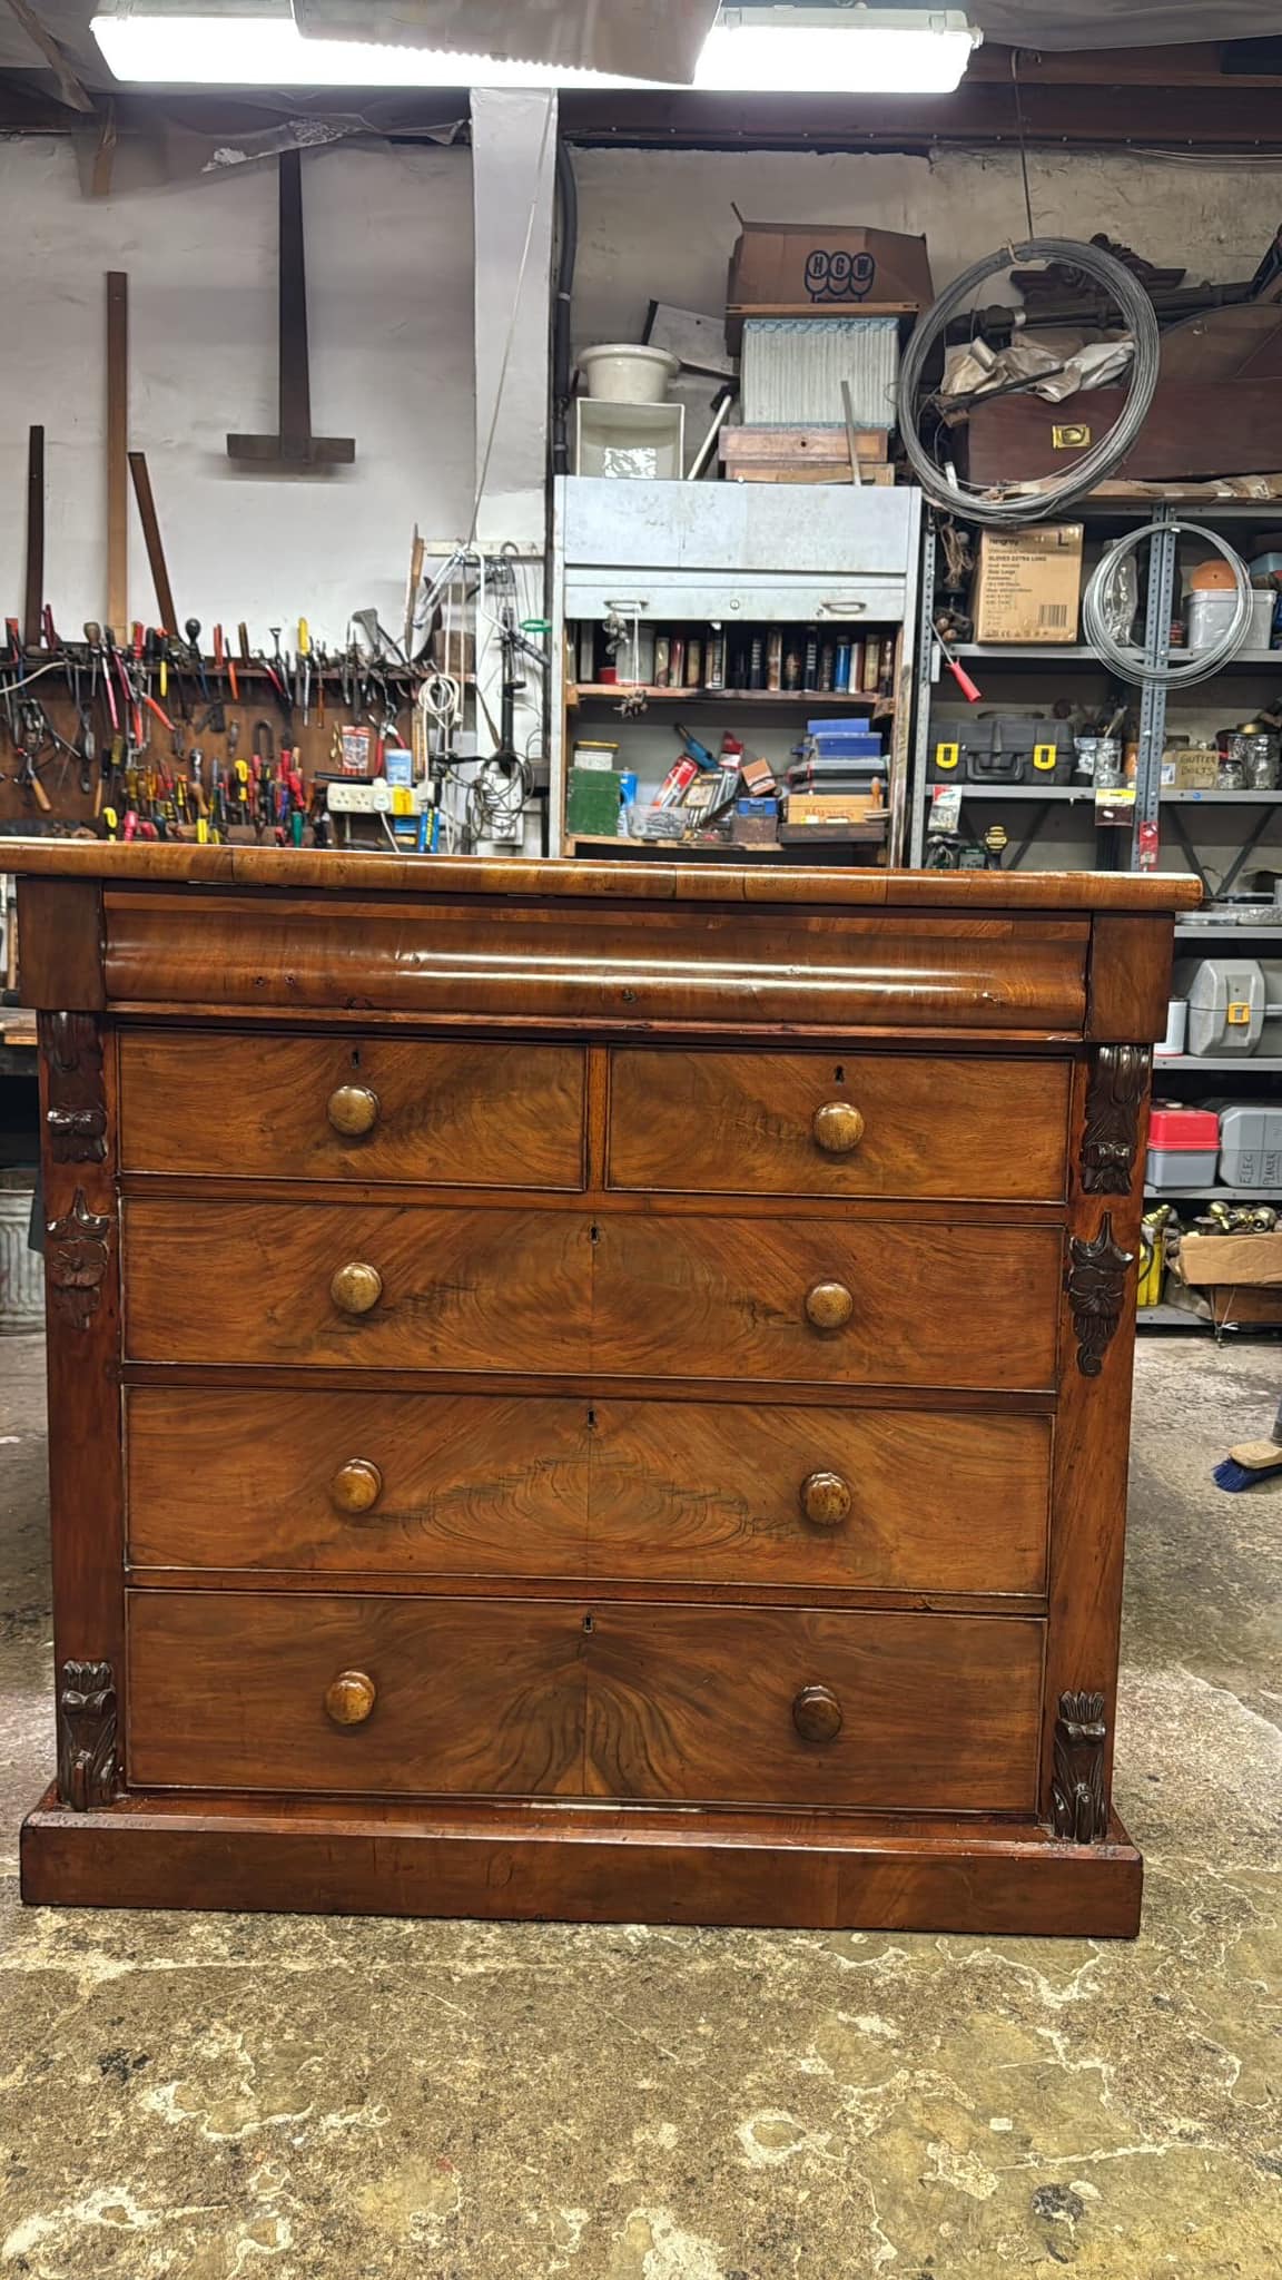
[[[424,896],[422,862],[335,848],[151,846],[146,841],[5,841],[9,871],[205,887],[299,887],[333,894]],[[550,896],[554,901],[803,903],[876,910],[1195,910],[1202,885],[1188,873],[1134,871],[823,871],[778,864],[529,862],[436,855],[431,878],[447,894]]]

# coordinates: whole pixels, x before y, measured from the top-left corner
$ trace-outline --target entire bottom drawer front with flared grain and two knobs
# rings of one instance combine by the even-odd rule
[[[1042,1623],[132,1591],[139,1788],[1031,1813]]]

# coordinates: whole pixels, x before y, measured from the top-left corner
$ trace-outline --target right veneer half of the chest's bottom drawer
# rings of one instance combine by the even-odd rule
[[[595,1607],[589,1785],[691,1803],[1029,1813],[1040,1683],[1042,1626],[1017,1617]],[[810,1687],[839,1708],[826,1742],[794,1717]]]

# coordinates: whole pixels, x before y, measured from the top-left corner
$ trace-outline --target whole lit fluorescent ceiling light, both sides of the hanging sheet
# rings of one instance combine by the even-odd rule
[[[963,9],[723,7],[703,93],[912,93],[960,82],[981,32]],[[303,39],[290,0],[105,0],[94,39],[116,80],[169,87],[655,87],[568,64],[513,64],[383,41]]]

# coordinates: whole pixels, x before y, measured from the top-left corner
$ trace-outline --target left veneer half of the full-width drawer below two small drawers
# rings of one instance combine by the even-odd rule
[[[379,1204],[125,1204],[137,1361],[579,1373],[591,1220]],[[376,1284],[349,1270],[374,1270]],[[379,1288],[367,1313],[344,1311]]]

